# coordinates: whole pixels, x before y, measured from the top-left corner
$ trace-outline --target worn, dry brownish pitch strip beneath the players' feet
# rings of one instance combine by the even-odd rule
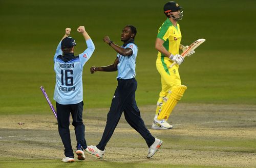
[[[206,166],[256,166],[256,106],[178,104],[169,118],[172,130],[152,130],[155,106],[140,107],[145,125],[163,140],[159,151],[147,159],[144,139],[126,123],[123,115],[106,146],[105,161]],[[84,109],[88,145],[97,145],[108,109]],[[71,119],[72,120],[72,119]],[[25,123],[18,125],[17,123]],[[72,121],[71,121],[72,122]],[[57,122],[48,115],[1,115],[0,158],[57,159],[63,145]],[[74,128],[70,125],[75,150]],[[0,159],[1,160],[1,159]],[[86,153],[86,160],[98,159]]]

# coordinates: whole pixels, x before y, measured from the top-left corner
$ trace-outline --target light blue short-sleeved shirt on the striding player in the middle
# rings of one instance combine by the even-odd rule
[[[117,64],[117,79],[132,79],[136,76],[136,57],[138,54],[138,47],[134,43],[128,43],[126,46],[121,46],[124,49],[130,48],[133,51],[131,56],[122,56],[117,54],[118,64]]]

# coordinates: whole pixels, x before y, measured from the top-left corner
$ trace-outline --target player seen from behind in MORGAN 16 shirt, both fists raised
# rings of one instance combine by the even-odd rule
[[[86,40],[87,49],[74,55],[74,46],[76,42],[69,37],[70,28],[66,28],[66,34],[63,36],[57,46],[54,55],[54,71],[56,73],[56,84],[54,90],[54,100],[58,116],[58,131],[65,147],[65,158],[63,162],[74,162],[74,154],[71,146],[69,116],[73,118],[72,125],[75,127],[76,135],[76,155],[78,160],[84,160],[83,149],[87,148],[84,138],[84,125],[82,122],[83,110],[83,89],[82,89],[82,70],[84,64],[90,59],[94,52],[94,44],[84,26],[79,26],[77,32],[81,33]]]

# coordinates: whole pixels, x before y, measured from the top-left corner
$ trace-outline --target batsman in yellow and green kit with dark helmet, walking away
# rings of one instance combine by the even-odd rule
[[[158,50],[156,67],[161,75],[162,90],[159,93],[152,129],[173,128],[167,123],[168,117],[187,89],[186,86],[181,85],[179,75],[179,65],[184,60],[179,55],[179,50],[185,51],[188,47],[180,44],[182,36],[178,20],[181,20],[183,16],[181,9],[182,7],[173,1],[164,5],[164,14],[167,19],[158,30],[155,44]],[[194,53],[191,51],[188,56]],[[173,62],[176,64],[170,68]]]

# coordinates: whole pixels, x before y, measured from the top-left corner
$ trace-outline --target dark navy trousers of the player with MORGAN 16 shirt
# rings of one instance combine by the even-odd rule
[[[70,139],[69,117],[71,113],[73,118],[72,125],[75,127],[77,146],[80,144],[83,149],[86,149],[87,144],[86,139],[84,138],[85,128],[82,122],[83,102],[70,105],[61,105],[56,102],[56,109],[58,117],[58,131],[65,148],[65,156],[74,158]]]

